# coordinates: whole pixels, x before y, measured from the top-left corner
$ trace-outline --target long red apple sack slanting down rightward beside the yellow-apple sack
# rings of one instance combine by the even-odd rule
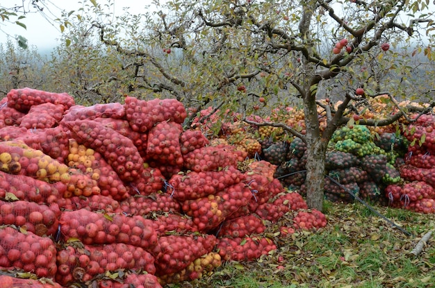
[[[131,139],[92,120],[63,123],[79,144],[104,155],[104,159],[123,181],[133,181],[142,173],[143,160]]]

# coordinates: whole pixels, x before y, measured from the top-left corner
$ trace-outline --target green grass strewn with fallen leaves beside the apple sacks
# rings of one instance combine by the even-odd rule
[[[167,287],[435,287],[435,235],[420,255],[409,254],[422,235],[435,230],[435,215],[375,209],[415,236],[359,203],[325,201],[327,227],[295,233],[257,261],[228,262],[210,276]],[[279,255],[284,262],[277,262]]]

